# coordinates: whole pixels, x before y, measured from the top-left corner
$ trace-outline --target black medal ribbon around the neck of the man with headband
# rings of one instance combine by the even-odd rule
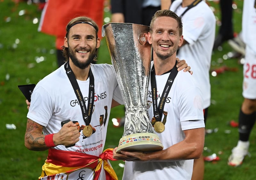
[[[93,103],[94,103],[94,77],[92,74],[92,70],[91,68],[89,70],[90,85],[89,85],[89,95],[88,95],[88,105],[87,105],[88,111],[87,111],[83,95],[76,81],[75,74],[73,73],[71,67],[69,66],[69,61],[66,62],[64,66],[65,66],[66,73],[68,75],[68,79],[71,82],[71,85],[74,89],[77,100],[79,101],[79,105],[83,113],[84,122],[88,126],[92,119],[92,109],[93,109]]]

